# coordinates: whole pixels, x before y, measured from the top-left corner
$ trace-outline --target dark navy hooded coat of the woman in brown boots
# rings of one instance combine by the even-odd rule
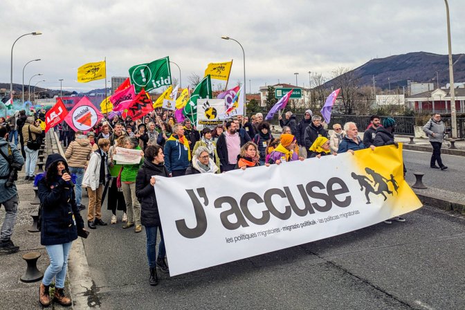
[[[57,161],[63,161],[66,169],[68,168],[60,154],[49,155],[46,167]],[[35,178],[39,200],[42,203],[40,244],[66,244],[78,239],[78,230],[84,228],[84,221],[76,205],[74,189],[61,177],[57,177],[53,184],[47,184],[45,174],[39,174]]]

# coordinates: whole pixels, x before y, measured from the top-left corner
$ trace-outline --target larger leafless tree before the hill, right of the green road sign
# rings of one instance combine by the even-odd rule
[[[332,72],[334,89],[340,89],[339,96],[342,99],[345,114],[354,113],[356,95],[358,93],[358,78],[350,68],[339,67]]]

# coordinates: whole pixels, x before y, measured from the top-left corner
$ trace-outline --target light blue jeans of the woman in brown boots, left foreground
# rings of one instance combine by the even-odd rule
[[[71,250],[72,242],[67,244],[54,244],[53,246],[45,246],[48,258],[50,258],[50,265],[48,265],[42,283],[48,286],[52,283],[53,277],[55,279],[55,287],[64,289],[64,280],[66,278],[66,267],[68,267],[68,255]]]

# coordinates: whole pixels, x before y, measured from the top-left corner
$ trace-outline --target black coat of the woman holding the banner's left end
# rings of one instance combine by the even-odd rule
[[[150,185],[152,176],[169,176],[169,172],[165,165],[156,165],[145,158],[136,176],[136,197],[142,209],[140,223],[149,227],[161,226],[154,187]]]

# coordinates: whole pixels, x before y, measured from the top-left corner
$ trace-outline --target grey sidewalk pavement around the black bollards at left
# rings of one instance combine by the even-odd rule
[[[47,138],[46,152],[51,154],[51,141]],[[19,206],[12,241],[19,246],[19,252],[0,254],[0,309],[31,310],[42,309],[39,304],[40,281],[24,283],[19,280],[26,271],[26,261],[22,256],[30,252],[38,252],[41,257],[37,260],[37,268],[44,273],[50,261],[45,246],[40,244],[40,233],[29,233],[28,228],[33,224],[31,214],[37,214],[39,205],[31,205],[35,197],[32,181],[24,181],[24,169],[19,172],[16,187],[19,194]],[[3,224],[5,208],[0,209],[0,223]],[[65,292],[70,294],[69,280],[65,282]],[[49,309],[72,309],[53,304]]]

